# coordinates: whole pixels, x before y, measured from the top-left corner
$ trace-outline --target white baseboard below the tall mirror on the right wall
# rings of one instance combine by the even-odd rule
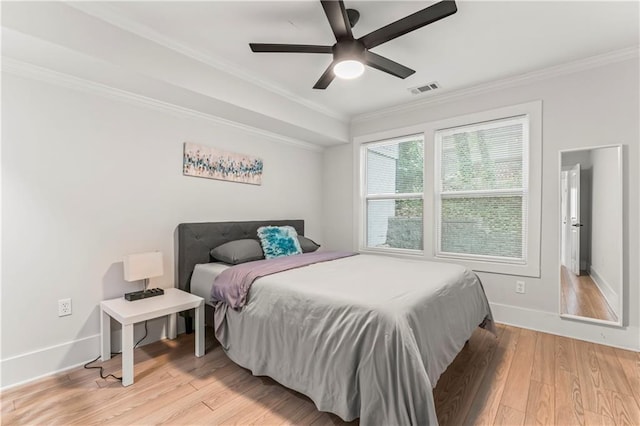
[[[637,326],[616,327],[566,319],[555,312],[520,308],[500,303],[490,303],[490,305],[495,321],[501,324],[640,352],[640,339],[635,342],[629,342],[629,336],[640,336],[640,327]]]

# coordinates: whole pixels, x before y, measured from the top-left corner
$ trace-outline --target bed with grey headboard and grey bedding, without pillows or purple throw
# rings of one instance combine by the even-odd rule
[[[449,263],[359,254],[259,278],[242,309],[212,301],[211,284],[228,266],[212,263],[209,251],[256,238],[264,225],[304,235],[301,220],[178,227],[179,287],[214,307],[229,358],[346,421],[437,424],[438,378],[476,327],[493,327],[477,276]]]

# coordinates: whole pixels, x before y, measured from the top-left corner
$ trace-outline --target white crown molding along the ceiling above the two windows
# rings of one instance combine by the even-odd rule
[[[507,89],[510,87],[521,86],[536,81],[547,80],[549,78],[558,77],[566,74],[573,74],[585,71],[591,68],[597,68],[616,62],[622,62],[629,59],[639,57],[640,46],[632,46],[624,49],[614,50],[602,55],[591,56],[577,61],[567,62],[537,71],[531,71],[525,74],[507,77],[500,80],[494,80],[488,83],[479,84],[473,87],[466,87],[458,90],[452,90],[439,95],[430,96],[425,99],[404,103],[400,105],[383,108],[377,111],[358,114],[351,119],[351,123],[361,123],[370,120],[378,120],[387,115],[394,113],[409,112],[411,110],[421,108],[427,105],[437,105],[440,103],[450,102],[470,96],[476,96],[483,93],[493,92],[495,90]]]

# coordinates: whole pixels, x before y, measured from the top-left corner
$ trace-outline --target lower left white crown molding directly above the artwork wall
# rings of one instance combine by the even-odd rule
[[[163,111],[163,112],[168,112],[172,114],[178,114],[180,116],[187,116],[191,118],[208,120],[216,124],[223,124],[226,126],[234,127],[236,129],[245,131],[252,135],[265,137],[274,142],[295,146],[297,148],[303,148],[309,151],[322,152],[324,150],[324,147],[321,147],[319,145],[306,142],[300,139],[295,139],[288,136],[280,135],[278,133],[259,129],[257,127],[239,123],[237,121],[227,120],[225,118],[218,117],[212,114],[207,114],[201,111],[196,111],[191,108],[186,108],[186,107],[175,105],[169,102],[160,101],[158,99],[150,98],[148,96],[138,95],[133,92],[108,86],[106,84],[85,80],[69,74],[54,71],[49,68],[39,67],[37,65],[29,64],[27,62],[22,62],[6,56],[2,56],[2,72],[14,74],[18,77],[25,77],[33,80],[43,81],[45,83],[55,84],[57,86],[66,87],[68,89],[80,90],[83,92],[100,95],[110,99],[124,101],[129,104],[143,106],[143,107],[154,109],[157,111]]]

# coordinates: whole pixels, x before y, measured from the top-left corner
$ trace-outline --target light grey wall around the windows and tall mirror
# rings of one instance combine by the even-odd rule
[[[575,67],[574,67],[575,69]],[[458,96],[447,101],[404,105],[360,117],[352,123],[352,137],[402,129],[412,125],[443,120],[541,99],[543,102],[542,154],[542,231],[541,276],[526,278],[526,294],[515,293],[517,278],[500,274],[480,274],[498,321],[534,328],[616,346],[640,349],[640,231],[637,218],[637,164],[640,159],[638,126],[639,66],[637,57],[621,62],[584,69],[571,74],[558,72],[530,82],[495,84],[495,89]],[[606,82],[606,84],[601,84]],[[403,133],[399,133],[400,135]],[[625,145],[625,327],[618,329],[560,319],[559,312],[559,150],[621,143]],[[350,151],[351,150],[351,151]],[[354,173],[352,148],[332,147],[326,159],[339,158],[331,167],[327,184],[340,182],[330,190],[325,187],[327,246],[354,248],[353,200],[357,176]],[[325,166],[326,167],[326,166]],[[326,178],[325,178],[326,179]],[[630,190],[631,188],[631,190]],[[351,200],[351,208],[345,208]],[[341,225],[341,232],[330,232],[334,223],[351,223],[351,232]]]

